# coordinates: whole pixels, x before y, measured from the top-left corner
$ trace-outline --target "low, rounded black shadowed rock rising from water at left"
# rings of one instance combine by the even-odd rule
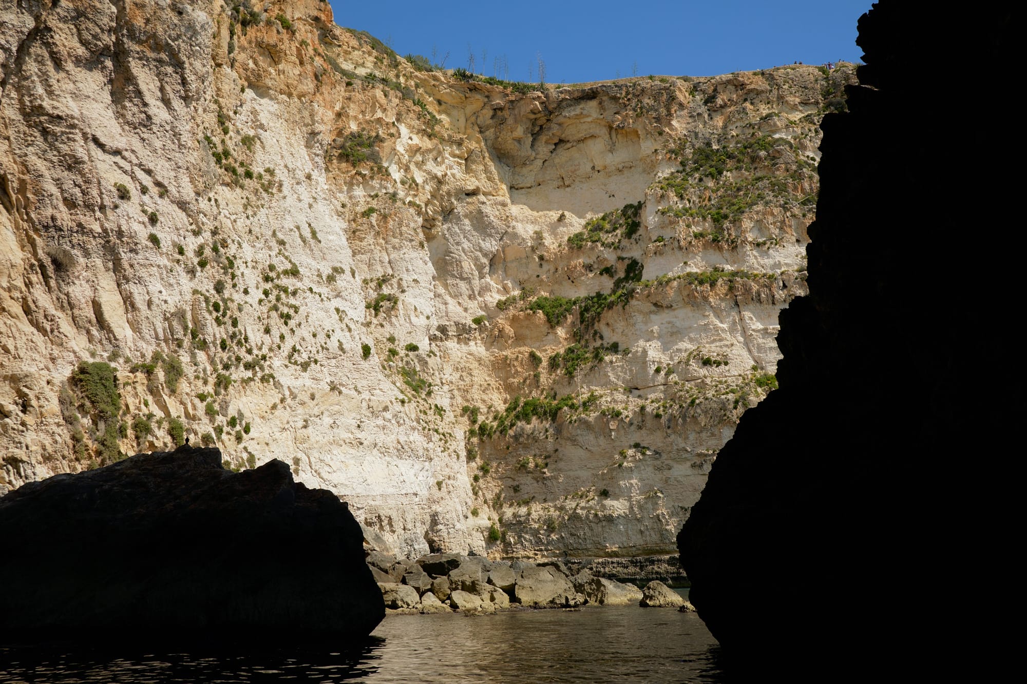
[[[384,617],[348,506],[278,460],[139,454],[0,499],[0,643],[344,645]]]

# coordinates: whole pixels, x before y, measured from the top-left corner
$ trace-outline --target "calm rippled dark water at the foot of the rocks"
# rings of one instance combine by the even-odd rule
[[[392,615],[351,652],[0,650],[0,683],[721,682],[716,644],[694,613],[670,608]]]

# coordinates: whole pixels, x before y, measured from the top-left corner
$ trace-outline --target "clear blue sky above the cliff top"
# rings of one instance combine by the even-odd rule
[[[574,83],[855,62],[855,22],[872,0],[330,2],[336,24],[401,55],[434,52],[438,64],[448,52],[447,69],[466,69],[473,51],[478,73],[537,81],[541,54],[546,81]]]

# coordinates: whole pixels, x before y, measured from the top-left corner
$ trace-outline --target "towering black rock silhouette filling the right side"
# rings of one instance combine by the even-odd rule
[[[945,569],[991,556],[1003,518],[976,499],[1000,500],[1003,478],[982,488],[966,468],[1010,467],[1002,427],[1023,401],[985,365],[1020,355],[1003,329],[1022,278],[971,277],[967,249],[1022,258],[1020,172],[993,125],[957,134],[942,93],[969,88],[976,117],[1009,90],[1010,7],[882,0],[860,18],[866,66],[822,124],[809,296],[781,315],[779,389],[741,418],[678,536],[725,655],[922,667],[917,644],[947,649]]]

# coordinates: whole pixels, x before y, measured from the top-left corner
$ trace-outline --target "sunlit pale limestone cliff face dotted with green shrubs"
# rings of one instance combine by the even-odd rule
[[[0,16],[0,488],[288,451],[406,555],[670,552],[852,70],[524,91],[327,3]]]

